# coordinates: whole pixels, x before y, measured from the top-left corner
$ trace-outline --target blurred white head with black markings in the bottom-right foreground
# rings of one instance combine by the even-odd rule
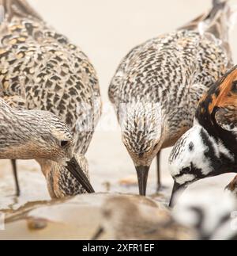
[[[202,187],[183,194],[172,211],[175,221],[197,231],[201,240],[232,240],[237,238],[234,228],[236,198],[216,188]],[[236,215],[236,214],[235,214]]]

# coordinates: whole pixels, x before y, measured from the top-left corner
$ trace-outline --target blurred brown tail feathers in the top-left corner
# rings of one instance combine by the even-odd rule
[[[4,16],[8,21],[14,16],[34,17],[38,20],[42,20],[39,13],[37,13],[26,0],[0,0],[0,6],[3,7]]]

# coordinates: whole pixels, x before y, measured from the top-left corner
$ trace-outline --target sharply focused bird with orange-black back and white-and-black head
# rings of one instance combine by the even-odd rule
[[[173,196],[202,178],[237,172],[236,113],[237,66],[205,94],[198,106],[194,127],[171,152]]]

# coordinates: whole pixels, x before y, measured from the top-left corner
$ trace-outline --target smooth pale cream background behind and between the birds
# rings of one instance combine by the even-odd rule
[[[80,46],[96,67],[106,106],[107,88],[121,59],[145,40],[171,32],[210,6],[209,0],[31,0],[45,21]],[[235,1],[233,1],[235,2]],[[237,2],[236,2],[237,3]],[[231,45],[237,58],[237,29],[231,32]],[[169,151],[163,151],[164,183],[171,185],[167,170]],[[88,151],[92,184],[105,191],[103,182],[111,182],[115,192],[137,192],[137,187],[119,186],[122,178],[135,176],[134,166],[123,147],[119,132],[96,132]],[[19,162],[22,196],[13,197],[13,178],[9,161],[0,162],[0,208],[17,208],[25,201],[48,198],[43,175],[35,162]],[[198,182],[216,184],[223,189],[234,175]],[[155,164],[150,171],[149,193],[155,192]],[[169,191],[168,191],[169,192]]]

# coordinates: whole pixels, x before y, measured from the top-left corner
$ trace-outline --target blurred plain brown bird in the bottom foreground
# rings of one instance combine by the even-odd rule
[[[194,239],[193,232],[176,224],[167,209],[139,204],[130,197],[108,199],[101,213],[102,225],[94,240],[99,239],[103,232],[115,240]]]

